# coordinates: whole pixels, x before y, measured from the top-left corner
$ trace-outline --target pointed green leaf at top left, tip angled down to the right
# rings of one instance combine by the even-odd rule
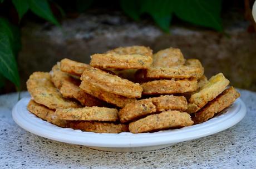
[[[47,0],[27,0],[31,11],[38,16],[46,19],[47,21],[60,25],[56,18],[53,16],[51,8]]]

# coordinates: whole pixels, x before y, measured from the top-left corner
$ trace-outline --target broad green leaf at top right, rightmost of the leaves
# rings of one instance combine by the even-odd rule
[[[184,21],[222,31],[221,0],[174,0],[174,13]]]

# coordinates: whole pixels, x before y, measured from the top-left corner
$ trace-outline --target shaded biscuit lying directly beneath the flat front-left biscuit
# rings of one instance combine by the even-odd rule
[[[129,132],[128,125],[96,121],[67,121],[67,127],[95,133]]]

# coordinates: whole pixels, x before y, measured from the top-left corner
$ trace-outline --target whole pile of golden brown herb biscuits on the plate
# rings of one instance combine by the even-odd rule
[[[97,133],[154,132],[198,124],[240,95],[222,73],[208,79],[180,49],[119,47],[89,64],[62,59],[27,81],[28,110],[60,127]]]

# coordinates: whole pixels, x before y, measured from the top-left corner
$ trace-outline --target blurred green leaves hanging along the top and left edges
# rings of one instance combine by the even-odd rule
[[[67,6],[67,11],[75,8],[76,12],[82,13],[93,4],[96,4],[96,1],[93,0],[75,0],[72,2],[60,0],[0,0],[0,3],[5,1],[12,1],[19,21],[30,10],[38,17],[57,26],[60,23],[53,15],[50,3],[58,9],[62,16],[65,16],[65,10],[62,9],[63,5]],[[101,3],[101,1],[97,3]],[[198,26],[213,28],[219,32],[222,31],[220,18],[221,0],[120,0],[110,3],[118,3],[122,11],[135,21],[140,21],[145,14],[149,14],[165,32],[169,32],[173,16]],[[9,23],[7,19],[0,17],[0,87],[4,84],[4,78],[7,78],[19,89],[16,56],[20,49],[19,28]]]

